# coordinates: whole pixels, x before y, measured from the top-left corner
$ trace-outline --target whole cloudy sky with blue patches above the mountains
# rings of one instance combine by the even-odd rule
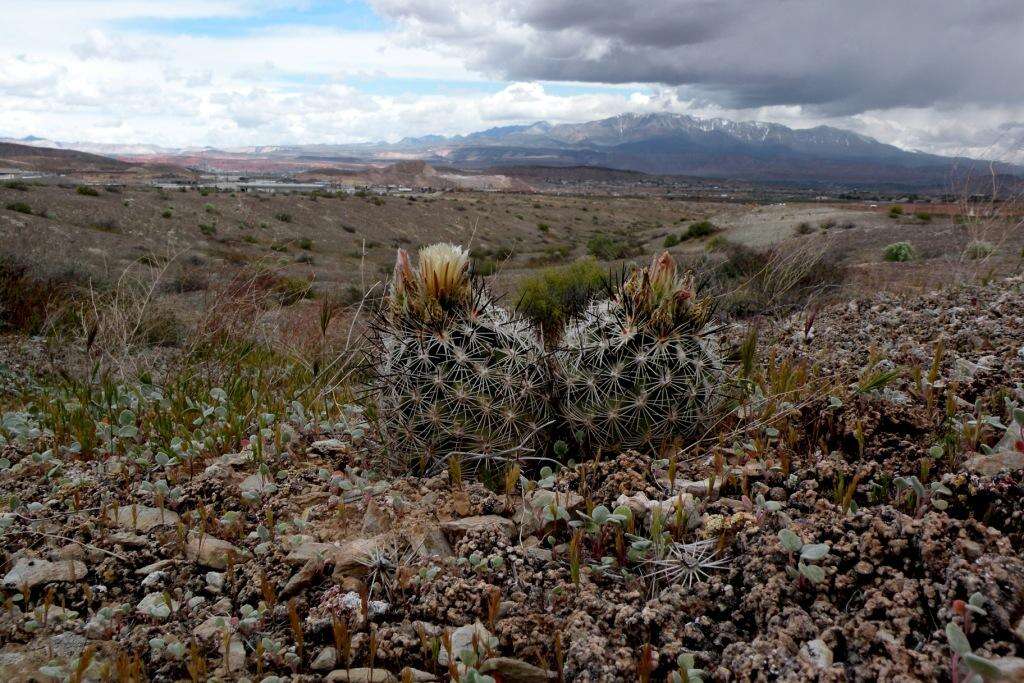
[[[0,0],[0,136],[397,140],[677,112],[1024,159],[1021,0]]]

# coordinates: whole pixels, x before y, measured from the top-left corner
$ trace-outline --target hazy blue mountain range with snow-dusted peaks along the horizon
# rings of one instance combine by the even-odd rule
[[[848,130],[818,126],[698,119],[679,114],[623,114],[581,124],[538,122],[469,135],[427,135],[398,142],[167,150],[153,145],[71,144],[10,140],[136,160],[179,155],[196,159],[265,159],[340,166],[403,159],[465,169],[509,166],[600,166],[644,173],[750,181],[851,185],[940,186],[988,162],[907,152]],[[1024,167],[995,163],[999,174]]]

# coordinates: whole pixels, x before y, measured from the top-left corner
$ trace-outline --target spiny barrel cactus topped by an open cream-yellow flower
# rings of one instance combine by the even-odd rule
[[[472,469],[537,442],[549,388],[543,348],[471,279],[461,247],[421,249],[416,268],[399,250],[374,327],[373,392],[392,466],[436,471],[455,455]]]

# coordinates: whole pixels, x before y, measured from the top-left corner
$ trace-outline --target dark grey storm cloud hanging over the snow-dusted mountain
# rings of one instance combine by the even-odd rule
[[[1021,0],[378,0],[511,80],[660,83],[831,115],[1024,101]]]

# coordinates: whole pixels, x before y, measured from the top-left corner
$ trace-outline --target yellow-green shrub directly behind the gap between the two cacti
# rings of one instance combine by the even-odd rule
[[[552,339],[601,292],[606,280],[607,273],[591,258],[544,268],[519,285],[518,310]]]

